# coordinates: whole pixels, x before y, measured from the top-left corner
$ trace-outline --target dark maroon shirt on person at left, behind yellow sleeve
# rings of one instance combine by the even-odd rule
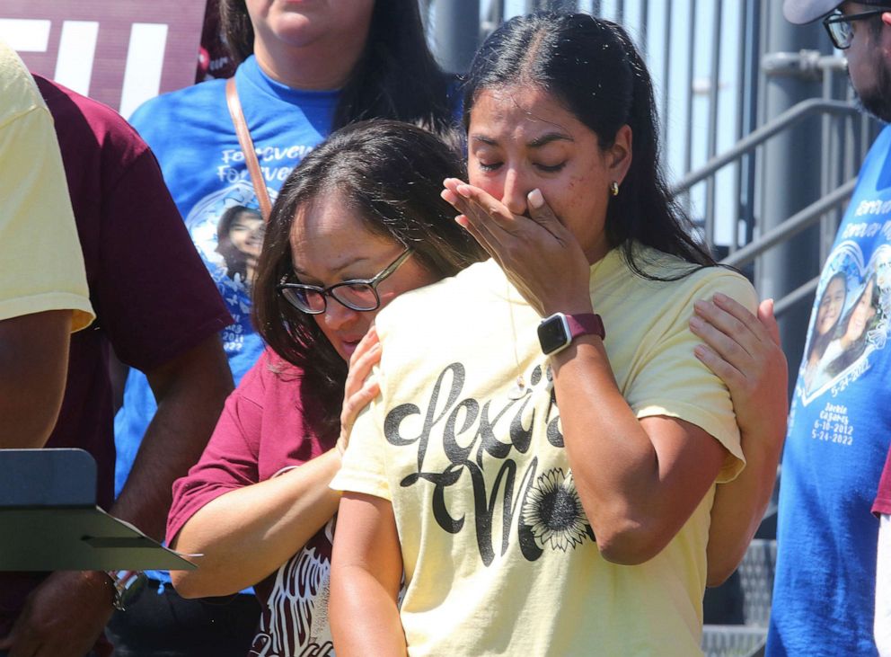
[[[114,477],[109,353],[150,370],[232,324],[154,155],[109,107],[35,75],[56,122],[96,320],[71,336],[51,448],[83,448],[108,509]],[[27,165],[27,163],[22,163]],[[0,573],[0,636],[40,573]]]

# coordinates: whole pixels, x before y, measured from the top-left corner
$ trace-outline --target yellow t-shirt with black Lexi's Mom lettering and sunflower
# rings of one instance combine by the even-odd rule
[[[638,253],[663,275],[678,271],[676,259]],[[736,476],[728,391],[693,356],[687,323],[693,302],[719,290],[754,309],[749,283],[719,268],[644,280],[613,250],[591,268],[590,289],[638,417],[708,431],[728,451],[719,480]],[[331,486],[393,503],[409,653],[700,653],[714,486],[659,555],[605,561],[572,482],[539,322],[491,261],[403,295],[376,320],[381,395]],[[520,373],[529,391],[511,399]]]

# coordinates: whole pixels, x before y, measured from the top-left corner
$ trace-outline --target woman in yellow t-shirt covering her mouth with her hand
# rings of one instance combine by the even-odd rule
[[[709,368],[735,356],[696,335],[714,337],[716,307],[748,316],[754,291],[684,231],[618,25],[507,22],[474,59],[464,123],[469,184],[443,198],[492,260],[376,319],[381,395],[332,483],[335,648],[695,653],[712,503],[754,506],[716,497],[744,462]],[[716,545],[738,551],[748,517],[719,516]]]

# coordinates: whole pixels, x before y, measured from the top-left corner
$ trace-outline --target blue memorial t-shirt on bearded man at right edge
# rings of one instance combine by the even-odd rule
[[[816,290],[783,453],[767,654],[874,655],[891,443],[891,127],[860,170]]]

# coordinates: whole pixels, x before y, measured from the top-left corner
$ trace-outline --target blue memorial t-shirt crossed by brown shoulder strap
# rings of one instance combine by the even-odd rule
[[[328,135],[338,93],[305,92],[279,84],[260,70],[252,56],[238,67],[235,84],[274,202],[296,164]],[[263,350],[251,327],[246,280],[260,253],[264,223],[226,107],[225,80],[158,96],[137,109],[130,122],[154,150],[192,241],[235,320],[221,337],[237,385]],[[131,370],[124,404],[115,417],[116,496],[156,408],[145,375]],[[152,575],[166,579],[161,573]]]

